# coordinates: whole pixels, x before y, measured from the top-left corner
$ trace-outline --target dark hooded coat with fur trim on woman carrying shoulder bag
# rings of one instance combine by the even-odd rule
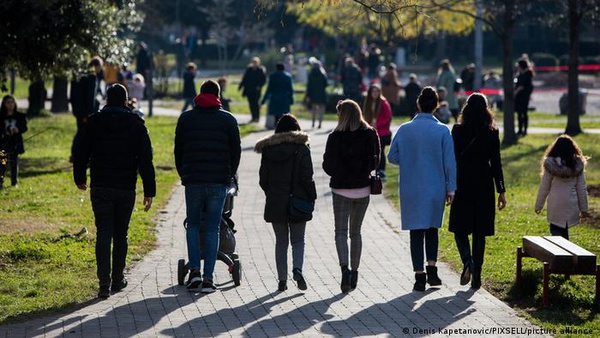
[[[259,183],[266,195],[265,221],[289,222],[288,203],[292,188],[297,197],[310,201],[317,199],[308,144],[308,134],[302,131],[273,134],[256,143],[254,151],[262,154]]]

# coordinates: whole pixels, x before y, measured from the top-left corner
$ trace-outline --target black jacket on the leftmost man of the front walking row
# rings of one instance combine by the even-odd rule
[[[105,106],[90,115],[75,144],[75,184],[86,182],[88,163],[91,187],[135,190],[139,172],[144,196],[156,195],[150,136],[144,121],[127,107]]]

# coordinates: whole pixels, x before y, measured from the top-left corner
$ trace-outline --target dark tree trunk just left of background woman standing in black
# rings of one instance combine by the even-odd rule
[[[515,133],[515,91],[513,83],[514,65],[512,60],[512,40],[514,31],[514,0],[507,0],[504,5],[504,31],[502,39],[502,84],[504,87],[504,139],[502,143],[517,143]]]

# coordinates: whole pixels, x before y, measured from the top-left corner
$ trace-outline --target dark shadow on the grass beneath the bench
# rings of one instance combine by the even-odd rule
[[[595,320],[595,277],[550,275],[548,307],[542,303],[542,269],[523,270],[519,287],[513,284],[504,301],[521,308],[533,318],[559,326],[582,326]]]

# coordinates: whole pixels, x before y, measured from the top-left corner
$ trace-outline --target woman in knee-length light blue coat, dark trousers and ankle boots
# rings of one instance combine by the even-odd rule
[[[438,107],[433,87],[425,87],[417,99],[419,113],[398,128],[388,159],[400,167],[400,215],[402,230],[410,230],[410,254],[415,271],[415,291],[426,283],[439,286],[437,275],[438,229],[444,203],[449,205],[456,190],[456,160],[450,129],[431,113]],[[423,246],[427,256],[424,273]]]

